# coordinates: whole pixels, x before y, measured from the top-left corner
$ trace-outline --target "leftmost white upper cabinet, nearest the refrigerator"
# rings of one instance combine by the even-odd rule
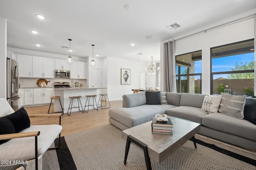
[[[32,77],[32,56],[17,54],[20,77]]]

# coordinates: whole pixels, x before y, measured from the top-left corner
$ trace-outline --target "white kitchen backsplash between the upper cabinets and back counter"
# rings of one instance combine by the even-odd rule
[[[20,88],[35,88],[35,87],[39,87],[37,85],[37,81],[38,81],[39,78],[20,78]],[[54,87],[54,82],[69,82],[70,83],[70,86],[72,87],[73,86],[73,82],[72,79],[65,79],[65,78],[55,78],[55,79],[47,79],[47,81],[50,81],[48,82],[47,86],[49,87]],[[75,82],[78,82],[79,83],[79,86],[80,86],[80,83],[83,85],[83,87],[86,87],[86,82],[87,80],[83,80],[83,79],[75,79]]]

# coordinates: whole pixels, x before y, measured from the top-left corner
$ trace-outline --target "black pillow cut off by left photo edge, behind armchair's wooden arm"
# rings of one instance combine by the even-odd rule
[[[11,134],[11,133],[15,133],[15,129],[14,129],[14,126],[12,125],[12,122],[5,117],[0,117],[0,134]],[[0,144],[3,144],[8,140],[10,139],[0,140]]]

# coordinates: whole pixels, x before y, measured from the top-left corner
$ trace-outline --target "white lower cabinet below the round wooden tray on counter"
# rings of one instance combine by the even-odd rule
[[[34,89],[34,105],[50,103],[54,96],[53,88]]]

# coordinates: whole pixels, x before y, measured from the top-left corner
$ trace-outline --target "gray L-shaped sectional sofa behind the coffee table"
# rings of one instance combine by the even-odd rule
[[[200,123],[199,134],[256,151],[256,125],[222,113],[208,114],[201,109],[205,96],[166,92],[168,104],[147,105],[145,93],[123,95],[123,107],[109,110],[109,122],[125,130],[166,114]]]

